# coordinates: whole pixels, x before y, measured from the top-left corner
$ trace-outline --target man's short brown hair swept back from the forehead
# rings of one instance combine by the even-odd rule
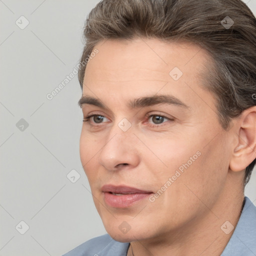
[[[224,18],[234,23],[222,25]],[[226,23],[226,21],[225,21]],[[231,118],[256,105],[256,19],[241,0],[101,0],[84,25],[85,46],[78,79],[82,88],[86,57],[104,39],[135,37],[186,40],[208,51],[206,88],[216,97],[219,122],[228,129]],[[250,178],[254,159],[245,170]]]

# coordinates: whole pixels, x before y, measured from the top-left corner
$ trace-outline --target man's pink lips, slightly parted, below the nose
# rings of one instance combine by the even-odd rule
[[[148,198],[153,192],[130,186],[103,185],[104,201],[110,207],[125,208]]]

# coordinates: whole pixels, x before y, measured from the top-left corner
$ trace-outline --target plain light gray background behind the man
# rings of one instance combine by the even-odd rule
[[[97,2],[0,0],[1,256],[61,255],[106,233],[79,158],[77,76],[46,98],[78,63],[83,23]],[[255,14],[256,0],[245,2]],[[15,24],[25,24],[21,15],[24,29]],[[75,183],[66,177],[72,169]],[[256,202],[256,171],[245,194]]]

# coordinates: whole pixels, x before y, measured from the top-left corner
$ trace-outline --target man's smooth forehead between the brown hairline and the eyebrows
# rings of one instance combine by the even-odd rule
[[[108,39],[94,48],[98,53],[87,63],[83,94],[103,101],[106,96],[109,101],[111,96],[120,104],[144,96],[145,92],[159,91],[177,96],[183,102],[198,101],[201,97],[212,101],[210,95],[201,95],[206,90],[198,88],[203,85],[200,74],[211,57],[196,44],[156,38]]]

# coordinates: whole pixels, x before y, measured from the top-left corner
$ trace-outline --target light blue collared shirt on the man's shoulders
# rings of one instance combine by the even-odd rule
[[[129,242],[118,242],[109,234],[104,234],[78,245],[62,256],[126,256],[128,248]],[[245,196],[237,225],[220,256],[255,255],[256,206]]]

